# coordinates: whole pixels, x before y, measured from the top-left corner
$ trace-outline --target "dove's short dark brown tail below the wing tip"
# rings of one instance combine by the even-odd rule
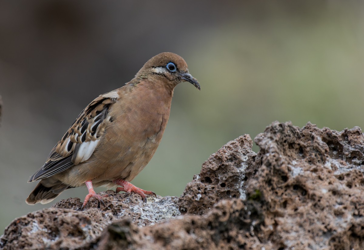
[[[42,182],[43,181],[40,181],[32,193],[29,194],[28,198],[25,200],[27,204],[34,205],[38,202],[46,204],[53,201],[60,193],[69,188],[68,185],[63,183],[54,183],[50,186],[46,186],[44,185],[45,183]]]

